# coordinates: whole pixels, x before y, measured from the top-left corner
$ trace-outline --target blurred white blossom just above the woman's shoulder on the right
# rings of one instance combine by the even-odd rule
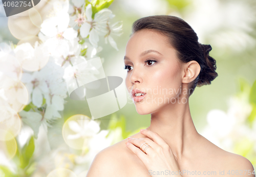
[[[253,139],[252,129],[245,124],[252,107],[245,94],[229,99],[227,112],[213,109],[207,114],[207,125],[202,135],[212,143],[232,151],[234,143],[241,138]]]

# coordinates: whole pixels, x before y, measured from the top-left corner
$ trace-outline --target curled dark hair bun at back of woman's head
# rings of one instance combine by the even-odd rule
[[[210,45],[202,45],[199,43],[202,49],[202,55],[204,57],[204,64],[201,65],[201,71],[199,74],[199,80],[197,82],[197,86],[210,84],[212,80],[214,80],[218,73],[216,72],[216,60],[209,56],[209,52],[212,50]]]

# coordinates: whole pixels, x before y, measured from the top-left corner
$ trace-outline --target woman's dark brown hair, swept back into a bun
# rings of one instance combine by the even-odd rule
[[[197,34],[183,19],[170,15],[143,17],[133,23],[132,34],[143,29],[152,29],[167,36],[180,61],[186,63],[195,60],[199,63],[201,70],[193,86],[189,88],[192,89],[189,95],[194,92],[196,86],[210,84],[218,76],[216,60],[209,56],[211,46],[198,42]]]

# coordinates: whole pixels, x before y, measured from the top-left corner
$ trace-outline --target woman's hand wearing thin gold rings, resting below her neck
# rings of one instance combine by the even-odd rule
[[[140,132],[148,138],[137,139],[129,137],[126,146],[143,162],[148,170],[148,174],[156,177],[182,176],[179,164],[169,145],[156,132],[148,129],[141,129]],[[146,145],[143,144],[145,142],[150,145],[150,147],[146,147]],[[145,147],[144,153],[143,150]]]

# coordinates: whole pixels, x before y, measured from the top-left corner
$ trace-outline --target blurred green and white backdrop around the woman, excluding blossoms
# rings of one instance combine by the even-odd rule
[[[215,4],[218,6],[215,7]],[[239,8],[243,14],[238,13],[237,9]],[[100,57],[104,58],[103,67],[107,76],[120,76],[125,79],[123,56],[126,42],[132,32],[133,22],[144,16],[161,14],[179,16],[196,31],[199,42],[211,45],[210,56],[217,61],[219,76],[210,85],[197,87],[189,99],[191,116],[199,132],[206,125],[206,115],[209,110],[227,109],[227,99],[240,89],[240,77],[247,80],[250,85],[256,79],[256,2],[254,0],[116,0],[109,9],[116,15],[113,20],[123,22],[123,34],[121,37],[114,36],[119,51],[106,45],[100,38],[99,45],[103,47]],[[233,24],[227,25],[226,21],[228,20],[234,20]],[[246,22],[247,24],[245,24]],[[248,27],[245,28],[246,26]],[[249,28],[252,29],[249,30]],[[139,115],[128,93],[127,100],[127,104],[115,113],[117,116],[124,115],[126,129],[133,131],[142,126],[149,126],[151,115]],[[74,114],[91,116],[86,101],[74,101],[69,98],[67,101],[64,111],[66,119]],[[101,128],[106,129],[110,119],[111,115],[100,118]]]

